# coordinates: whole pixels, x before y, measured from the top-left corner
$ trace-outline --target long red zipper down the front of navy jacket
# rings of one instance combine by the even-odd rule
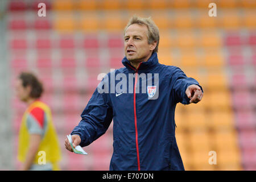
[[[136,151],[137,151],[137,160],[138,160],[138,171],[141,171],[141,165],[139,162],[139,143],[138,143],[138,128],[137,128],[137,115],[136,115],[136,85],[138,79],[138,69],[141,66],[139,64],[138,68],[135,69],[135,82],[134,82],[134,93],[133,93],[133,105],[134,105],[134,123],[135,123],[135,141],[136,141]]]

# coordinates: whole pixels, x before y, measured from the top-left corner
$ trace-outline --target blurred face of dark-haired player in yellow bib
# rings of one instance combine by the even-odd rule
[[[22,80],[19,78],[15,82],[15,91],[16,96],[19,98],[20,101],[27,102],[28,98],[30,97],[30,86],[24,87],[22,85]]]

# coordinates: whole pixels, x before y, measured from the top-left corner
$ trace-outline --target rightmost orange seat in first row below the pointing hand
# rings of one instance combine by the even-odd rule
[[[234,127],[233,113],[230,111],[214,110],[209,114],[208,126],[215,130],[228,130]]]

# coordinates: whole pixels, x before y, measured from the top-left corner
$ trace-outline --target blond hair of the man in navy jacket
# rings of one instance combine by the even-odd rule
[[[147,26],[147,30],[148,30],[148,35],[147,35],[147,39],[148,39],[148,44],[152,44],[156,41],[156,47],[153,50],[153,52],[158,52],[158,45],[159,45],[159,30],[158,27],[156,26],[156,24],[154,23],[154,21],[151,19],[151,17],[148,18],[141,18],[138,17],[136,15],[134,15],[129,22],[127,23],[125,30],[123,31],[123,35],[125,35],[125,32],[127,30],[127,28],[131,25],[131,24],[139,24],[139,25],[146,25]]]

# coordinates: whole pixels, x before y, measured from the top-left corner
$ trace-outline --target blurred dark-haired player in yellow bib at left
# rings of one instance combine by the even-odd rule
[[[32,73],[16,79],[16,95],[27,104],[19,130],[18,160],[21,170],[59,170],[61,152],[49,107],[40,101],[43,85]]]

